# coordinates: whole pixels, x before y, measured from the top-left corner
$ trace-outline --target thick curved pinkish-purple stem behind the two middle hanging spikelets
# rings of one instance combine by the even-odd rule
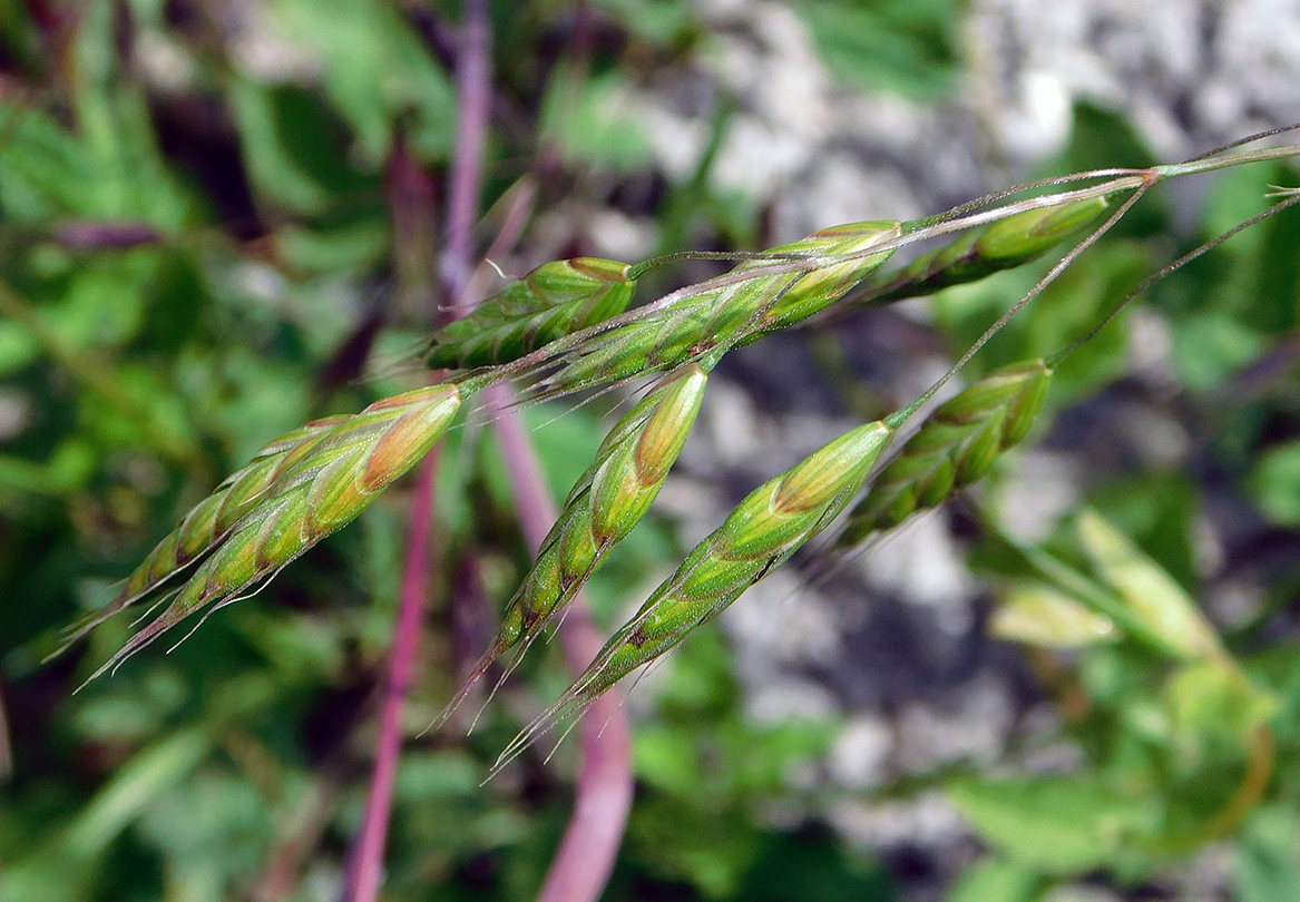
[[[510,389],[493,386],[485,394],[489,409],[502,411],[493,425],[515,487],[524,537],[537,550],[558,516],[555,500],[546,490],[528,432],[511,406]],[[560,639],[564,658],[575,673],[581,673],[603,645],[582,593],[566,613]],[[597,698],[581,729],[582,763],[573,816],[564,828],[538,902],[595,902],[601,898],[632,807],[632,734],[618,694]]]

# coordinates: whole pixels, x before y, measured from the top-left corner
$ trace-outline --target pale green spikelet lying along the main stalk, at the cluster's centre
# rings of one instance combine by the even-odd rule
[[[790,259],[806,259],[809,266],[705,289],[611,329],[573,348],[558,372],[541,383],[540,395],[610,385],[647,370],[675,369],[806,320],[888,260],[892,250],[868,251],[900,234],[901,224],[896,221],[854,222],[774,247],[767,251],[772,260],[742,263],[729,276],[780,266]],[[850,255],[852,259],[842,259]]]

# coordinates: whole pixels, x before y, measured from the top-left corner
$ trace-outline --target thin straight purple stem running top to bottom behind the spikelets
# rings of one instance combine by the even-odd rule
[[[452,299],[454,313],[462,309],[462,294],[472,269],[473,225],[482,181],[482,144],[490,100],[488,40],[485,0],[467,0],[460,53],[456,58],[456,153],[451,165],[446,251],[441,266],[443,286],[447,296]],[[428,595],[436,469],[437,454],[430,454],[420,464],[415,496],[411,499],[402,597],[393,636],[384,710],[380,715],[374,772],[370,777],[361,836],[350,868],[346,902],[374,902],[378,897],[384,850],[387,845],[389,819],[393,811],[393,784],[402,749],[402,712],[411,689]]]

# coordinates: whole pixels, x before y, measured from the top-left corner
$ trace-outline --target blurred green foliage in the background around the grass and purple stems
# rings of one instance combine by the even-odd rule
[[[928,101],[954,87],[961,6],[792,9],[836,78]],[[269,438],[406,387],[398,364],[442,300],[419,263],[428,276],[455,134],[455,4],[222,9],[0,0],[0,894],[12,902],[333,898],[360,821],[402,491],[173,654],[151,650],[74,695],[127,634],[109,623],[42,664],[65,624]],[[598,208],[650,178],[624,97],[656,65],[707,48],[690,4],[497,4],[493,25],[485,209],[525,174],[541,212]],[[696,172],[646,204],[663,250],[699,230],[719,244],[762,234],[757,204],[707,179],[728,103]],[[1122,117],[1080,107],[1049,170],[1148,161]],[[1262,209],[1266,186],[1294,181],[1283,165],[1227,173],[1176,240],[1235,225]],[[1165,203],[1147,198],[975,367],[1054,351],[1096,322],[1167,259]],[[1030,606],[1030,623],[1053,624],[994,620],[1052,677],[1043,693],[1080,763],[940,784],[982,840],[952,902],[1050,899],[1086,873],[1136,885],[1209,842],[1232,850],[1244,902],[1300,894],[1297,230],[1295,216],[1270,220],[1153,292],[1196,472],[1117,472],[1084,486],[1095,513],[1041,543],[996,522],[976,543],[1004,611]],[[572,244],[581,238],[537,252]],[[959,352],[1036,277],[953,289],[935,325]],[[1060,370],[1062,428],[1132,387],[1130,318]],[[384,376],[360,378],[368,356]],[[598,407],[529,411],[559,495],[599,442]],[[454,433],[439,467],[443,567],[412,734],[488,634],[455,586],[477,574],[488,610],[528,567],[493,443]],[[1258,595],[1235,623],[1212,624],[1193,600],[1212,587],[1197,563],[1208,516],[1231,521],[1225,534],[1243,546],[1291,550],[1223,551],[1222,580]],[[637,530],[592,585],[598,617],[612,623],[679,552],[664,524]],[[537,658],[473,736],[407,743],[389,898],[532,898],[568,815],[572,747],[555,767],[529,755],[517,779],[478,782],[515,711],[564,685],[556,655]],[[801,793],[797,775],[824,759],[838,724],[755,724],[740,695],[716,633],[675,656],[637,725],[638,794],[608,898],[907,896],[906,875],[841,844]],[[772,816],[792,803],[802,825]]]

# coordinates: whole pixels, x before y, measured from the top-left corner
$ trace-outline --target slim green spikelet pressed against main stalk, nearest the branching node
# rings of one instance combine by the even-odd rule
[[[974,282],[1036,260],[1067,237],[1092,225],[1106,211],[1105,198],[1076,200],[998,220],[962,234],[909,265],[878,278],[867,303],[884,304],[933,294],[950,285]]]

